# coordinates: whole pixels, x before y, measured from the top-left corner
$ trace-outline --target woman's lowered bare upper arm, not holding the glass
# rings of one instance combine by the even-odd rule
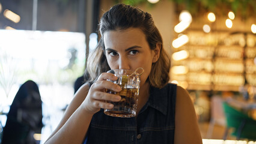
[[[174,143],[202,143],[194,105],[187,91],[180,86],[177,86]]]

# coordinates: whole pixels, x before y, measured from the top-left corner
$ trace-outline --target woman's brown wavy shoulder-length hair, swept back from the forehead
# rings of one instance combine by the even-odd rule
[[[105,44],[103,34],[106,31],[117,31],[128,28],[141,29],[151,50],[160,44],[160,56],[157,62],[152,64],[147,81],[151,86],[162,88],[169,81],[170,58],[163,49],[163,40],[160,32],[154,25],[151,14],[131,5],[117,4],[106,11],[100,19],[99,33],[102,36],[96,47],[88,56],[85,80],[93,83],[103,72],[110,70],[105,56]]]

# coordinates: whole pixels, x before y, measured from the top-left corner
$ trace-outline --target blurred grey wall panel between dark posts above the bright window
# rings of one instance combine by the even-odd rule
[[[38,0],[37,29],[78,32],[78,0]]]

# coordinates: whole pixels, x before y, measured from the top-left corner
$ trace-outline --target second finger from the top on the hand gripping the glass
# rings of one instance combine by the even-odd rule
[[[94,82],[93,85],[91,86],[91,89],[111,89],[112,91],[115,91],[115,92],[119,92],[122,90],[120,86],[118,86],[115,83],[109,82],[107,80]]]

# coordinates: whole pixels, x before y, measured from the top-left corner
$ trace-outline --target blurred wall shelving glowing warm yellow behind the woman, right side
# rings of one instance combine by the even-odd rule
[[[183,66],[186,73],[172,71],[171,80],[187,83],[188,90],[239,91],[249,83],[256,86],[256,35],[245,32],[187,31],[189,43],[173,49],[189,56],[172,59],[172,67]],[[175,73],[174,73],[175,72]]]

